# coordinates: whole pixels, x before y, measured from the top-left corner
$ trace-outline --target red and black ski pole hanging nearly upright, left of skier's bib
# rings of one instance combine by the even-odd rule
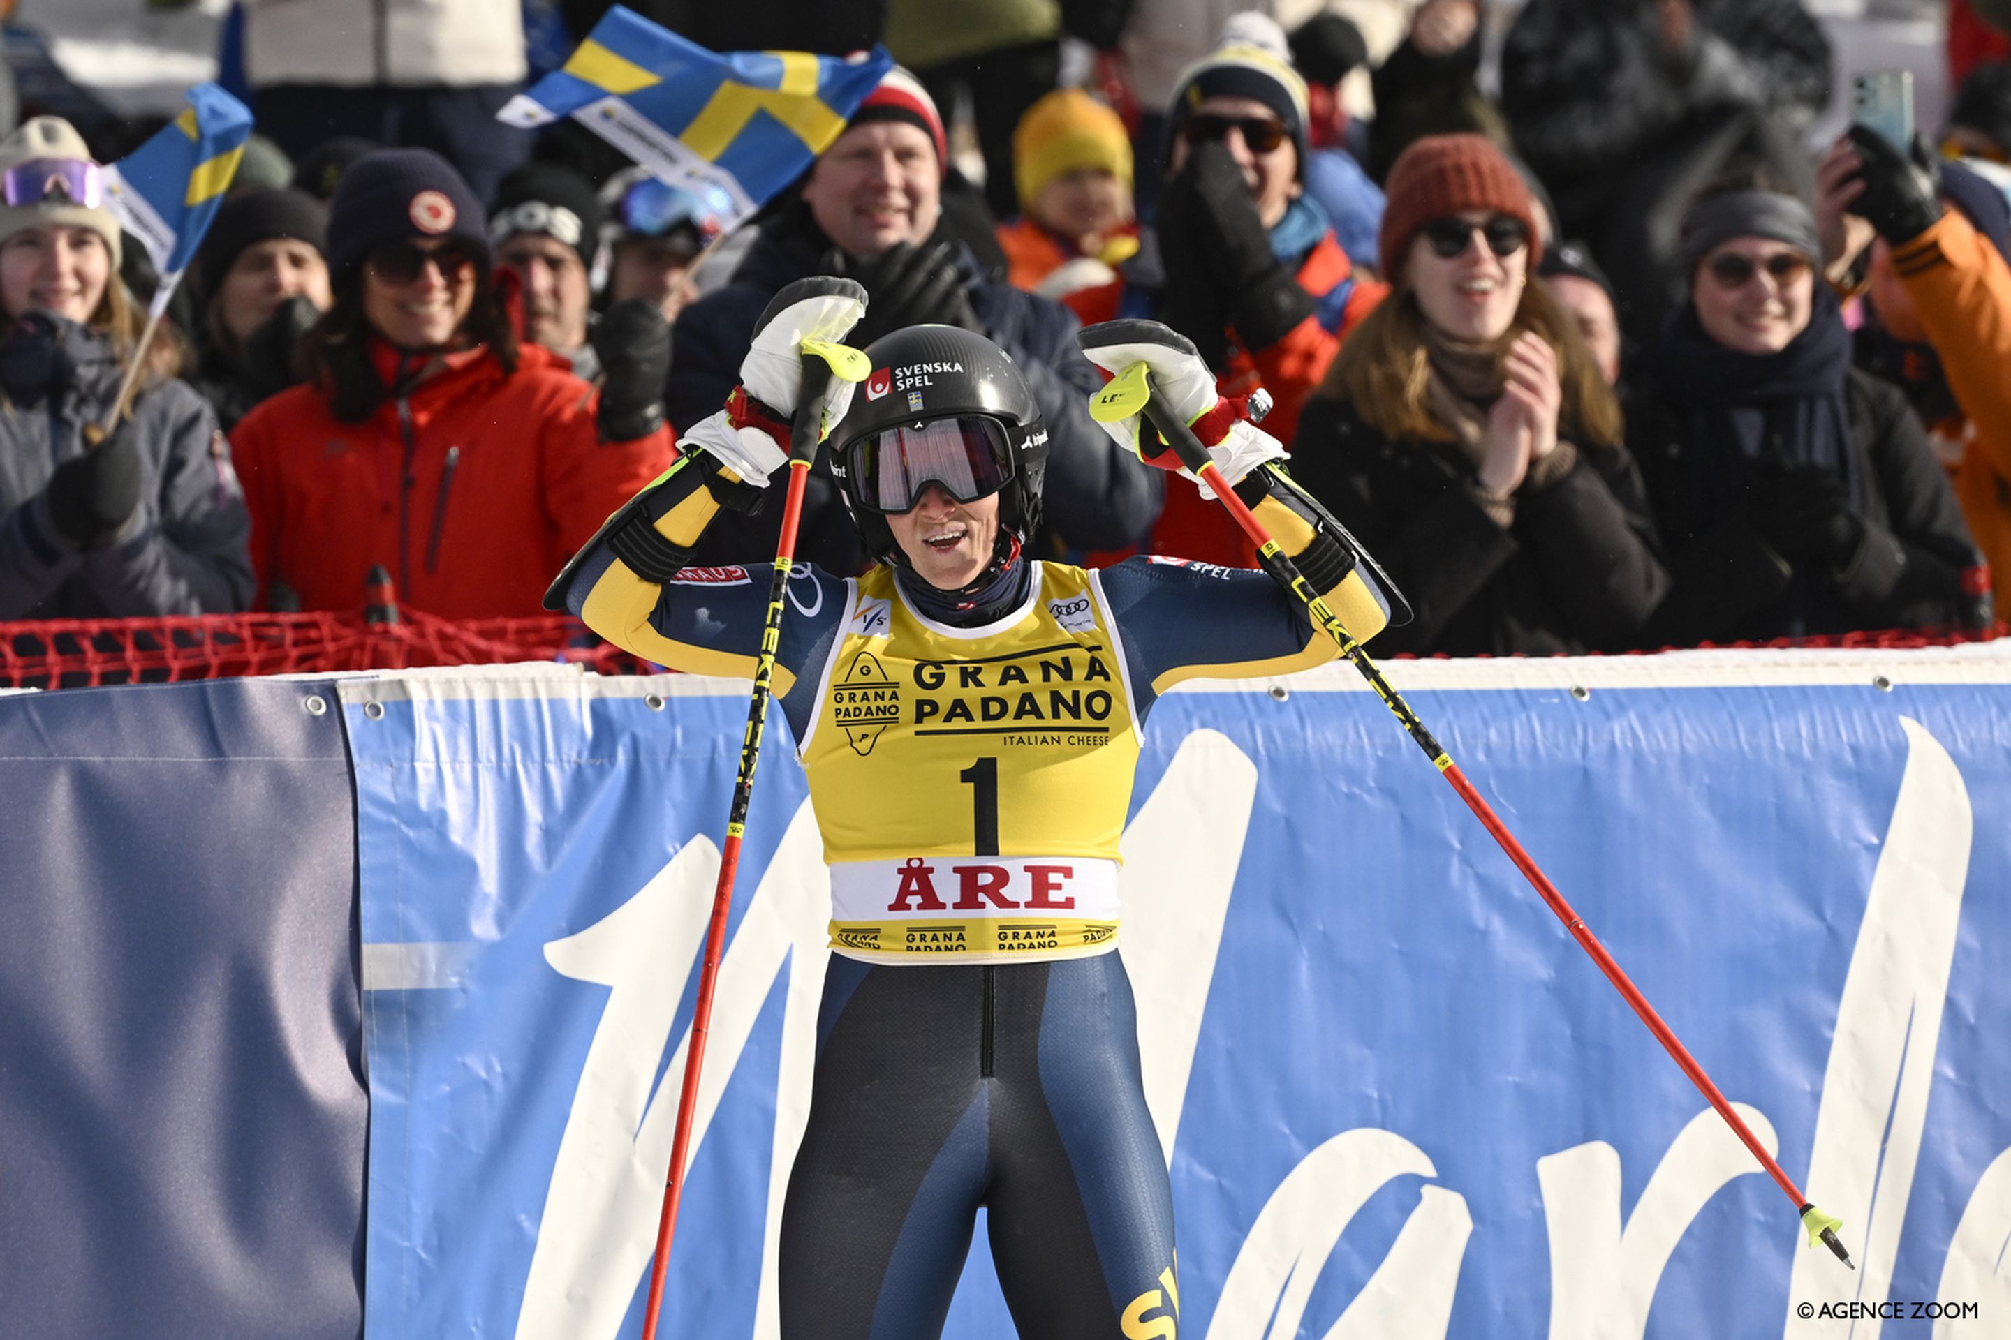
[[[726,952],[726,914],[734,906],[740,838],[746,834],[748,802],[754,796],[754,763],[760,759],[760,737],[768,723],[768,699],[774,697],[774,653],[782,639],[782,601],[788,587],[788,571],[796,559],[796,522],[802,516],[802,490],[810,478],[810,462],[816,460],[816,448],[822,442],[822,396],[829,384],[831,364],[806,348],[802,390],[796,396],[796,422],[788,442],[788,494],[782,500],[782,536],[776,540],[774,577],[768,581],[768,617],[762,623],[760,655],[754,661],[754,693],[748,697],[748,723],[740,739],[740,771],[734,777],[734,804],[726,816],[726,842],[720,846],[720,882],[712,890],[712,924],[706,928],[706,958],[698,972],[692,1047],[684,1055],[684,1089],[678,1093],[678,1125],[670,1143],[670,1171],[664,1177],[664,1213],[658,1217],[656,1254],[650,1260],[650,1300],[644,1304],[642,1314],[644,1340],[656,1340],[658,1312],[664,1306],[664,1272],[670,1266],[670,1244],[678,1230],[684,1163],[690,1157],[692,1117],[698,1111],[698,1073],[706,1061],[706,1035],[712,1031],[712,990],[720,982],[720,958]]]

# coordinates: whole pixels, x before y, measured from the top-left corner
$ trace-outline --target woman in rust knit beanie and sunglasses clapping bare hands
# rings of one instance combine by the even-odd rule
[[[1392,295],[1299,420],[1297,480],[1410,597],[1386,651],[1625,647],[1669,589],[1621,414],[1532,271],[1528,187],[1478,135],[1390,169]]]

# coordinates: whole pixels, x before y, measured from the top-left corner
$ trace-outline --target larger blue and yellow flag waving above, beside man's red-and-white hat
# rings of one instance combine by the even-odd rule
[[[893,58],[808,52],[716,54],[621,8],[607,10],[563,68],[497,113],[517,127],[573,117],[668,183],[726,191],[754,213],[845,131]]]

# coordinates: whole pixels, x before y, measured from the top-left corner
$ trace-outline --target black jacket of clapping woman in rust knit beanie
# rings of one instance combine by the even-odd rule
[[[1571,438],[1569,428],[1561,430]],[[1450,442],[1392,442],[1343,400],[1305,404],[1291,474],[1327,504],[1410,599],[1386,653],[1565,655],[1631,647],[1669,589],[1641,478],[1619,446],[1573,448],[1571,468],[1516,492],[1502,528]]]

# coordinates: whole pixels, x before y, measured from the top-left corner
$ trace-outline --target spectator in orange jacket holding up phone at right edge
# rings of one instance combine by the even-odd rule
[[[2007,619],[2011,265],[2003,247],[2011,217],[2003,197],[1925,145],[1900,155],[1864,127],[1852,127],[1822,159],[1818,185],[1826,251],[1848,235],[1840,211],[1870,223],[1878,237],[1856,362],[1896,382],[1927,424],[1989,563],[1997,619]]]

